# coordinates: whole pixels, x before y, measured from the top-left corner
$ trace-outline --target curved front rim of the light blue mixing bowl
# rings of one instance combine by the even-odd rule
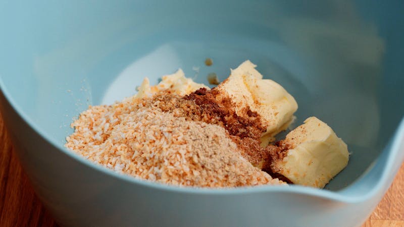
[[[33,131],[35,131],[44,141],[46,141],[49,145],[52,145],[55,149],[63,152],[64,154],[68,155],[70,158],[78,161],[81,164],[84,164],[93,170],[106,174],[110,177],[117,178],[119,180],[125,181],[126,183],[133,184],[133,185],[140,185],[144,187],[150,187],[156,190],[165,190],[170,192],[176,193],[184,193],[184,194],[201,194],[201,195],[240,195],[240,194],[252,194],[252,193],[292,193],[292,194],[300,194],[300,195],[307,195],[313,197],[319,197],[323,199],[328,199],[337,202],[344,202],[344,203],[360,203],[366,200],[369,200],[376,196],[379,191],[384,189],[386,183],[388,183],[389,176],[392,169],[393,163],[397,160],[396,156],[402,149],[404,152],[404,117],[401,119],[398,127],[396,128],[395,133],[392,137],[392,144],[391,148],[388,152],[384,167],[382,169],[381,177],[375,184],[375,186],[369,190],[367,193],[364,193],[360,196],[354,195],[345,195],[340,194],[339,192],[349,188],[350,186],[356,184],[362,178],[364,178],[374,167],[374,164],[368,167],[367,171],[365,171],[357,180],[352,182],[351,184],[347,185],[343,189],[338,191],[329,191],[326,189],[317,189],[312,187],[305,187],[300,185],[289,185],[289,186],[273,186],[273,185],[263,185],[263,186],[254,186],[254,187],[238,187],[238,188],[196,188],[196,187],[178,187],[172,185],[161,184],[157,182],[150,182],[145,181],[142,179],[138,179],[135,177],[131,177],[128,175],[120,174],[112,169],[104,167],[102,165],[96,164],[75,152],[69,150],[65,146],[61,146],[55,139],[49,136],[49,133],[45,132],[38,124],[36,124],[26,112],[24,112],[21,106],[14,100],[11,93],[8,91],[3,78],[4,75],[0,75],[0,92],[3,93],[6,101],[10,104],[14,112],[21,118],[23,122],[25,122],[28,127],[30,127]],[[404,156],[403,156],[404,158]],[[380,160],[376,160],[380,161]],[[398,160],[402,162],[402,160]],[[396,169],[398,171],[398,169]],[[391,183],[391,182],[390,182]]]

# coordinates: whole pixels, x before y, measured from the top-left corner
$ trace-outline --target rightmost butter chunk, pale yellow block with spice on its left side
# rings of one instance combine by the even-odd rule
[[[347,145],[315,117],[287,134],[283,143],[290,149],[271,167],[294,184],[324,188],[348,164]]]

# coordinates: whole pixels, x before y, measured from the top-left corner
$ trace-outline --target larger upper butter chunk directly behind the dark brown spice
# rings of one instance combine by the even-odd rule
[[[237,115],[245,115],[245,108],[256,111],[266,127],[262,135],[262,146],[275,140],[275,135],[293,122],[297,110],[294,98],[278,83],[263,79],[250,61],[243,62],[231,70],[229,78],[218,89],[225,91],[235,105]]]

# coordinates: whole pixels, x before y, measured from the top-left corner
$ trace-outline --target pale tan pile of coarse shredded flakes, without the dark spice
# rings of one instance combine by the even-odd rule
[[[242,157],[221,126],[175,117],[153,99],[90,106],[66,147],[114,171],[177,186],[284,184]]]

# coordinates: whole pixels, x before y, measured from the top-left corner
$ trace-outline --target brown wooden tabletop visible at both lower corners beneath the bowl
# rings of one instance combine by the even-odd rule
[[[404,226],[404,164],[363,227]],[[0,226],[57,226],[32,190],[0,116]]]

